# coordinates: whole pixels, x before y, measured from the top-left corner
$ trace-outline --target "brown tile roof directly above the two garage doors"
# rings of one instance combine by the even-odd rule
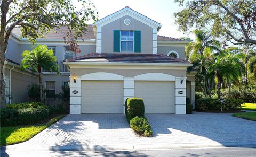
[[[67,59],[66,62],[121,62],[121,63],[190,63],[161,54],[92,53]]]

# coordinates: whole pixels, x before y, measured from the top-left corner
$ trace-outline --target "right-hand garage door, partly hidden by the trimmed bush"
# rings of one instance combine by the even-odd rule
[[[144,100],[145,113],[174,113],[174,81],[135,81],[134,95]]]

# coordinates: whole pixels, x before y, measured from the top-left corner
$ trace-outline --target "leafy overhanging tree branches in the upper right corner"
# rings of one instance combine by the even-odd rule
[[[256,45],[256,0],[175,0],[181,7],[175,13],[179,29],[209,28],[215,37],[233,43]]]

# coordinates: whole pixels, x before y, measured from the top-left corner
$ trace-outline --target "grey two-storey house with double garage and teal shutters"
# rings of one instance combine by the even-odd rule
[[[188,41],[158,36],[161,26],[126,6],[88,25],[77,56],[63,43],[65,28],[38,39],[54,50],[61,73],[43,73],[46,99],[69,84],[71,114],[124,113],[129,97],[143,98],[146,113],[186,114],[186,98],[195,104],[195,73],[187,72],[192,64],[185,60]],[[13,52],[29,49],[27,39],[17,36],[18,29],[10,38],[18,45]]]

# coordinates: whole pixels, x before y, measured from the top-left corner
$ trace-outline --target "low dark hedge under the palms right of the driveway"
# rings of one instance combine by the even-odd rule
[[[223,111],[231,111],[236,108],[240,108],[241,104],[243,104],[243,100],[241,99],[225,99],[224,103],[220,103],[218,99],[198,99],[196,102],[196,110],[198,111],[220,111],[221,107]]]

